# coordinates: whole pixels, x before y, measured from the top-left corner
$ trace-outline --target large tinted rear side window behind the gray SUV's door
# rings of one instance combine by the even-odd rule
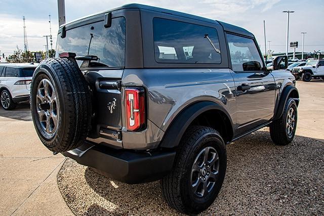
[[[155,61],[158,63],[221,63],[215,28],[154,18],[153,34]]]

